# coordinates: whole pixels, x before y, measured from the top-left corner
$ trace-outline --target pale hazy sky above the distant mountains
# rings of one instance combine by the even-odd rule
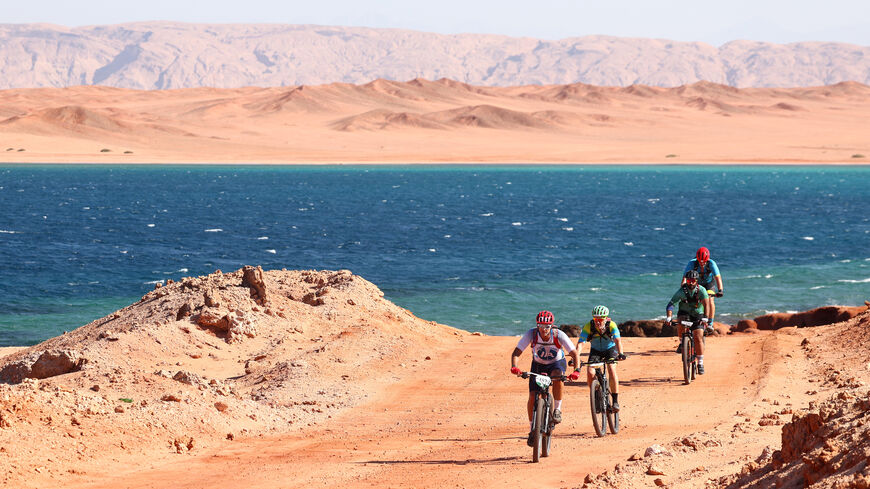
[[[0,23],[144,20],[393,27],[543,39],[606,34],[870,45],[870,0],[4,0]]]

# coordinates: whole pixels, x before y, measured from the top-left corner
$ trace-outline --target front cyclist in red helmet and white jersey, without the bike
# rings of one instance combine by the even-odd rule
[[[565,375],[565,369],[568,365],[565,361],[565,353],[571,356],[574,360],[574,365],[579,365],[580,362],[577,356],[577,350],[571,343],[568,335],[560,329],[553,328],[554,321],[553,313],[550,311],[541,311],[536,318],[537,327],[526,331],[517,347],[514,348],[511,354],[511,373],[516,376],[521,376],[523,372],[517,367],[517,359],[529,345],[532,346],[532,368],[531,372],[536,374],[546,374],[553,379],[553,399],[555,406],[553,411],[553,421],[556,423],[562,422],[562,380]],[[565,353],[562,352],[565,351]],[[575,368],[569,378],[577,380],[580,377],[580,372]],[[534,444],[533,431],[534,420],[532,415],[535,410],[535,391],[538,389],[538,384],[535,383],[533,375],[529,376],[529,446]]]

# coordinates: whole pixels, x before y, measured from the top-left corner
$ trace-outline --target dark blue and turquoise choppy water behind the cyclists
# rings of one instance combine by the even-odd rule
[[[655,318],[701,245],[725,322],[863,304],[870,168],[0,166],[0,345],[248,264],[347,268],[492,334]]]

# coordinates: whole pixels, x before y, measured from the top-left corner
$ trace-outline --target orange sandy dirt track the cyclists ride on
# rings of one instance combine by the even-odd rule
[[[705,477],[733,473],[735,459],[776,444],[778,426],[748,421],[769,411],[766,403],[779,405],[777,399],[804,402],[806,359],[790,353],[804,336],[789,328],[710,338],[707,375],[690,386],[682,383],[674,338],[628,339],[631,357],[620,365],[620,433],[596,438],[588,390],[570,386],[555,453],[540,464],[531,463],[525,444],[526,383],[507,373],[516,338],[471,337],[431,360],[409,359],[415,367],[388,367],[395,383],[328,423],[237,438],[135,468],[86,471],[68,487],[576,487],[588,473],[612,470],[652,444],[707,433],[721,446],[671,461],[672,482],[691,487],[698,481],[686,482],[691,476],[677,471],[706,465]],[[525,352],[521,364],[529,361]],[[751,427],[737,430],[744,421]]]

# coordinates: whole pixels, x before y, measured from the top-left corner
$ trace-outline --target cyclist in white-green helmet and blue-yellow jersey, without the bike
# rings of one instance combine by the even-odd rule
[[[611,320],[608,315],[610,310],[606,306],[595,306],[592,309],[592,320],[583,325],[580,331],[580,337],[577,339],[577,355],[583,349],[583,343],[589,341],[589,358],[588,363],[598,363],[604,360],[625,360],[625,353],[622,351],[622,339],[619,336],[619,328],[616,323]],[[575,364],[576,365],[576,364]],[[610,375],[611,391],[610,395],[613,398],[611,408],[613,412],[619,412],[619,377],[616,375],[616,364],[608,364],[607,372]],[[592,380],[595,379],[595,371],[592,367],[586,367],[586,383],[592,387]]]

